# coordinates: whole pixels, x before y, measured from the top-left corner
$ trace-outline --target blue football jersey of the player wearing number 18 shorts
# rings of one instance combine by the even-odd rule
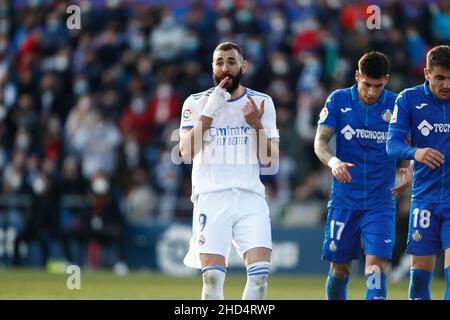
[[[414,162],[412,199],[427,203],[450,203],[450,99],[444,101],[432,94],[428,81],[403,90],[396,100],[389,126],[394,139],[411,135],[411,146],[440,151],[445,162],[433,170]]]

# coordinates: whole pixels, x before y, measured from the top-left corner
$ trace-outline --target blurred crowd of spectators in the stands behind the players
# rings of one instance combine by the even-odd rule
[[[69,4],[80,30],[66,27]],[[370,4],[380,30],[366,26]],[[421,83],[427,49],[450,41],[450,2],[0,0],[0,226],[15,265],[30,240],[45,259],[60,241],[69,261],[80,241],[95,265],[126,224],[190,219],[190,167],[172,162],[172,134],[184,99],[213,86],[224,40],[251,63],[244,84],[276,106],[280,171],[262,177],[274,225],[321,226],[331,175],[313,139],[327,95],[354,83],[369,50],[389,57],[391,90]]]

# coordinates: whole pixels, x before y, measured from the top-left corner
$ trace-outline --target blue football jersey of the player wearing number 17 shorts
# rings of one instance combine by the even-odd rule
[[[385,89],[377,103],[367,106],[359,100],[355,84],[328,97],[318,124],[335,130],[336,156],[356,165],[349,168],[349,183],[340,183],[333,176],[329,207],[395,208],[391,188],[396,160],[387,154],[386,140],[396,96]]]

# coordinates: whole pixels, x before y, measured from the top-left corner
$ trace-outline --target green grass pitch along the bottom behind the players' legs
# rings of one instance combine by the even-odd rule
[[[81,289],[69,290],[69,275],[50,274],[37,269],[0,269],[0,299],[146,299],[196,300],[200,298],[201,277],[173,277],[142,271],[117,276],[110,271],[81,270]],[[225,299],[240,299],[245,274],[229,274],[225,280]],[[277,275],[269,278],[267,299],[324,299],[324,276]],[[442,299],[445,282],[432,280],[432,298]],[[388,282],[388,299],[406,299],[408,281]],[[353,276],[348,286],[348,298],[364,298],[364,279]]]

